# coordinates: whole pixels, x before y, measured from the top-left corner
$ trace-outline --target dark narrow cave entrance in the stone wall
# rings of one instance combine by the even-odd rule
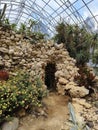
[[[55,80],[56,64],[47,63],[45,67],[45,85],[48,90],[56,91],[56,80]]]

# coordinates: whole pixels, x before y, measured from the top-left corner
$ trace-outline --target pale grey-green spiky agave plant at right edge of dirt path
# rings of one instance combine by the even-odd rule
[[[71,103],[68,104],[68,108],[70,112],[70,122],[72,124],[70,130],[90,130],[85,123],[77,121],[75,111]]]

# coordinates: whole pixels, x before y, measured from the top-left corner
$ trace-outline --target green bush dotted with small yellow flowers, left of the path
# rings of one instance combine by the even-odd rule
[[[18,72],[7,82],[0,82],[0,123],[22,108],[27,110],[41,105],[44,92],[41,80],[36,82],[32,84],[29,74],[24,72]]]

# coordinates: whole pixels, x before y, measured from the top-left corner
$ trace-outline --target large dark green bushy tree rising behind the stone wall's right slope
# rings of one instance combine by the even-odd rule
[[[78,25],[69,25],[64,22],[56,26],[57,34],[54,39],[58,44],[64,43],[69,55],[76,59],[77,65],[84,65],[90,58],[92,35]]]

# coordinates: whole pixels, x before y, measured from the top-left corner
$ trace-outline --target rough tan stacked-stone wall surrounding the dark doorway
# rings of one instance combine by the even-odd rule
[[[13,71],[24,69],[30,72],[32,81],[40,76],[45,84],[45,67],[55,63],[55,80],[60,94],[69,93],[72,97],[83,97],[88,90],[74,82],[78,75],[75,59],[71,58],[63,44],[53,41],[30,44],[21,34],[0,27],[0,67]]]

